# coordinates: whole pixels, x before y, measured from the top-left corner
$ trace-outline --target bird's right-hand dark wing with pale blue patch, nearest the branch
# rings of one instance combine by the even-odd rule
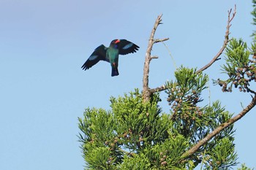
[[[129,53],[136,53],[136,51],[139,50],[139,46],[127,41],[126,39],[120,39],[120,42],[118,43],[118,50],[119,54],[126,55]]]

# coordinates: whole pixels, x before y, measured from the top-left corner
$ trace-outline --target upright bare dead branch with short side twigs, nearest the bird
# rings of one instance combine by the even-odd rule
[[[151,59],[157,58],[156,56],[151,56],[152,47],[153,47],[154,43],[164,42],[164,41],[168,40],[168,38],[154,39],[154,34],[157,30],[157,27],[159,26],[159,24],[162,24],[161,23],[161,21],[162,21],[161,18],[162,18],[162,15],[159,15],[157,17],[157,20],[154,23],[154,27],[151,31],[151,35],[150,35],[149,40],[148,40],[148,48],[146,50],[146,58],[145,58],[144,69],[143,69],[143,101],[144,102],[149,101],[149,98],[152,94],[151,91],[148,88],[149,63],[150,63]]]

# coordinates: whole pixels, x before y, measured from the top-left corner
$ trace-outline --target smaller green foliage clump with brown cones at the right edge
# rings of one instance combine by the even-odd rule
[[[233,87],[243,92],[255,93],[250,88],[250,82],[256,81],[256,55],[242,39],[231,39],[226,48],[226,63],[222,70],[228,75],[227,80],[217,80],[216,84],[222,86],[223,92],[232,92]]]

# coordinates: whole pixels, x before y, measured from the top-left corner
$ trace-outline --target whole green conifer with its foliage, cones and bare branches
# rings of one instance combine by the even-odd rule
[[[253,0],[253,24],[256,25],[256,1]],[[79,139],[86,169],[232,169],[238,164],[233,123],[256,104],[256,34],[247,47],[242,39],[229,38],[231,21],[236,15],[228,12],[227,30],[222,48],[201,69],[181,66],[175,79],[159,88],[148,87],[151,49],[157,42],[154,33],[161,23],[159,15],[148,42],[143,74],[143,90],[135,89],[118,98],[110,98],[111,110],[87,108],[78,118]],[[249,93],[252,101],[237,115],[228,112],[220,101],[202,106],[201,94],[206,90],[208,69],[225,51],[222,70],[227,80],[214,80],[223,92],[239,90]],[[235,89],[233,89],[235,88]],[[170,113],[159,107],[159,93],[165,91]],[[249,169],[242,164],[241,169]]]

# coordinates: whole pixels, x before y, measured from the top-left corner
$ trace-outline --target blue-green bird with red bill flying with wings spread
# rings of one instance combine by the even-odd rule
[[[90,69],[99,61],[107,61],[112,68],[111,76],[118,76],[118,55],[127,55],[129,53],[136,53],[139,49],[138,45],[127,41],[126,39],[114,39],[110,42],[109,47],[99,45],[90,55],[88,60],[81,67],[83,70]]]

